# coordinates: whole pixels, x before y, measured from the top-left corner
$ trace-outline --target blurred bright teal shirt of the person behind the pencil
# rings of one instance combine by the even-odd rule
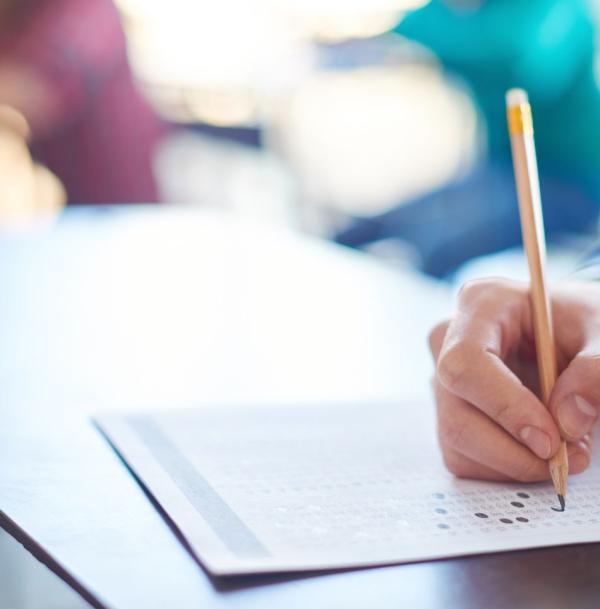
[[[429,47],[468,85],[486,122],[492,160],[510,158],[504,94],[523,87],[540,169],[600,195],[600,92],[588,2],[487,0],[467,8],[432,0],[396,31]]]

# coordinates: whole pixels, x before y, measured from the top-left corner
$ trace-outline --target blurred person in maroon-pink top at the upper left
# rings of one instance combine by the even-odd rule
[[[165,126],[136,89],[110,0],[0,0],[0,104],[70,203],[151,203]]]

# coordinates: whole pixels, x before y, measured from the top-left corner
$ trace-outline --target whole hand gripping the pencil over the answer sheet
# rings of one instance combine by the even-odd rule
[[[453,319],[432,330],[439,440],[455,475],[546,480],[561,436],[570,473],[588,467],[600,408],[600,285],[564,285],[551,302],[559,377],[549,409],[538,397],[527,285],[468,283]]]

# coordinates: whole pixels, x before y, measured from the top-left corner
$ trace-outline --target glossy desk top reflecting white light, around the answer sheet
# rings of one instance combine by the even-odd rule
[[[426,399],[444,288],[224,217],[109,208],[1,238],[0,293],[3,526],[90,602],[597,607],[597,545],[211,581],[89,424],[119,408]],[[0,533],[0,606],[88,604]]]

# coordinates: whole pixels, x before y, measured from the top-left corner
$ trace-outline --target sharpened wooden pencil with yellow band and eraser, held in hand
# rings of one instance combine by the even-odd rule
[[[546,240],[533,139],[533,120],[527,93],[522,89],[508,91],[506,93],[506,111],[517,184],[521,231],[529,266],[530,302],[540,389],[542,400],[548,406],[550,394],[556,382],[556,350],[552,330],[552,311],[546,290]],[[564,440],[561,440],[560,448],[549,460],[548,466],[561,507],[559,511],[564,511],[569,474],[567,444]]]

